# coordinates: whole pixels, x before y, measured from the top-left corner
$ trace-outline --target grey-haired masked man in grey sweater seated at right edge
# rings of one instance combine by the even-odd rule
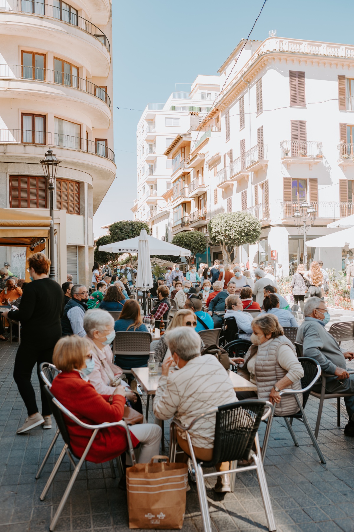
[[[301,323],[296,342],[303,344],[304,356],[309,356],[320,364],[325,373],[333,377],[326,379],[327,393],[352,393],[344,397],[349,423],[344,428],[346,436],[354,437],[354,375],[349,375],[346,370],[346,360],[352,360],[354,353],[343,353],[338,342],[324,326],[330,320],[330,313],[326,304],[319,297],[309,297],[304,306],[305,321]],[[321,385],[313,387],[315,392],[321,392]]]

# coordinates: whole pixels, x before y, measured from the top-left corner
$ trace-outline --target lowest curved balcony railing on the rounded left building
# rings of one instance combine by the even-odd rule
[[[48,131],[31,131],[28,129],[0,129],[0,144],[40,144],[58,148],[75,149],[80,152],[93,153],[114,162],[114,152],[107,146],[62,133]]]

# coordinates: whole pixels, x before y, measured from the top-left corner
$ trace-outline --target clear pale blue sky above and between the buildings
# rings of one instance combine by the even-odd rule
[[[247,37],[263,1],[113,0],[117,179],[94,216],[95,237],[102,234],[102,225],[132,219],[136,124],[146,104],[165,102],[176,83],[190,85],[198,74],[217,74]],[[349,0],[267,0],[250,38],[264,40],[276,29],[280,37],[354,44],[353,20],[354,3]]]

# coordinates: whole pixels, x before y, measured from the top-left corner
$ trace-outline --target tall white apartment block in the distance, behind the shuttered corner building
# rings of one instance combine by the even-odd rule
[[[152,227],[152,235],[171,242],[171,174],[176,161],[168,160],[166,148],[178,134],[195,131],[219,94],[219,77],[198,76],[191,92],[175,92],[165,104],[149,103],[137,125],[137,199],[135,220]],[[183,161],[188,153],[183,153]],[[173,163],[173,168],[172,168]]]

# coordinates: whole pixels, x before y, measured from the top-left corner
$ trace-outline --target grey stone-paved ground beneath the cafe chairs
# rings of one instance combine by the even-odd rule
[[[15,434],[26,417],[12,377],[17,346],[2,344],[0,347],[0,532],[41,532],[48,530],[72,466],[64,459],[46,500],[40,502],[40,493],[63,443],[59,438],[55,452],[36,481],[36,471],[55,428],[42,430],[39,427],[27,435]],[[352,347],[352,343],[347,347]],[[38,390],[37,376],[33,377],[33,383]],[[317,410],[318,401],[310,398],[306,412],[312,427]],[[279,532],[354,531],[354,439],[343,435],[347,423],[344,403],[341,410],[342,423],[337,428],[335,400],[325,401],[318,441],[326,465],[318,461],[300,422],[293,423],[299,441],[299,447],[295,447],[284,423],[274,421],[265,471]],[[152,419],[151,416],[150,421]],[[165,423],[166,445],[167,425]],[[263,431],[262,428],[261,441]],[[85,464],[56,530],[126,532],[126,494],[117,486],[118,479],[111,478],[108,464]],[[208,497],[213,530],[267,530],[261,494],[253,472],[241,473],[236,480],[235,492],[226,496],[214,494],[210,485]],[[183,532],[198,530],[201,530],[200,511],[197,493],[192,486],[187,493]]]

